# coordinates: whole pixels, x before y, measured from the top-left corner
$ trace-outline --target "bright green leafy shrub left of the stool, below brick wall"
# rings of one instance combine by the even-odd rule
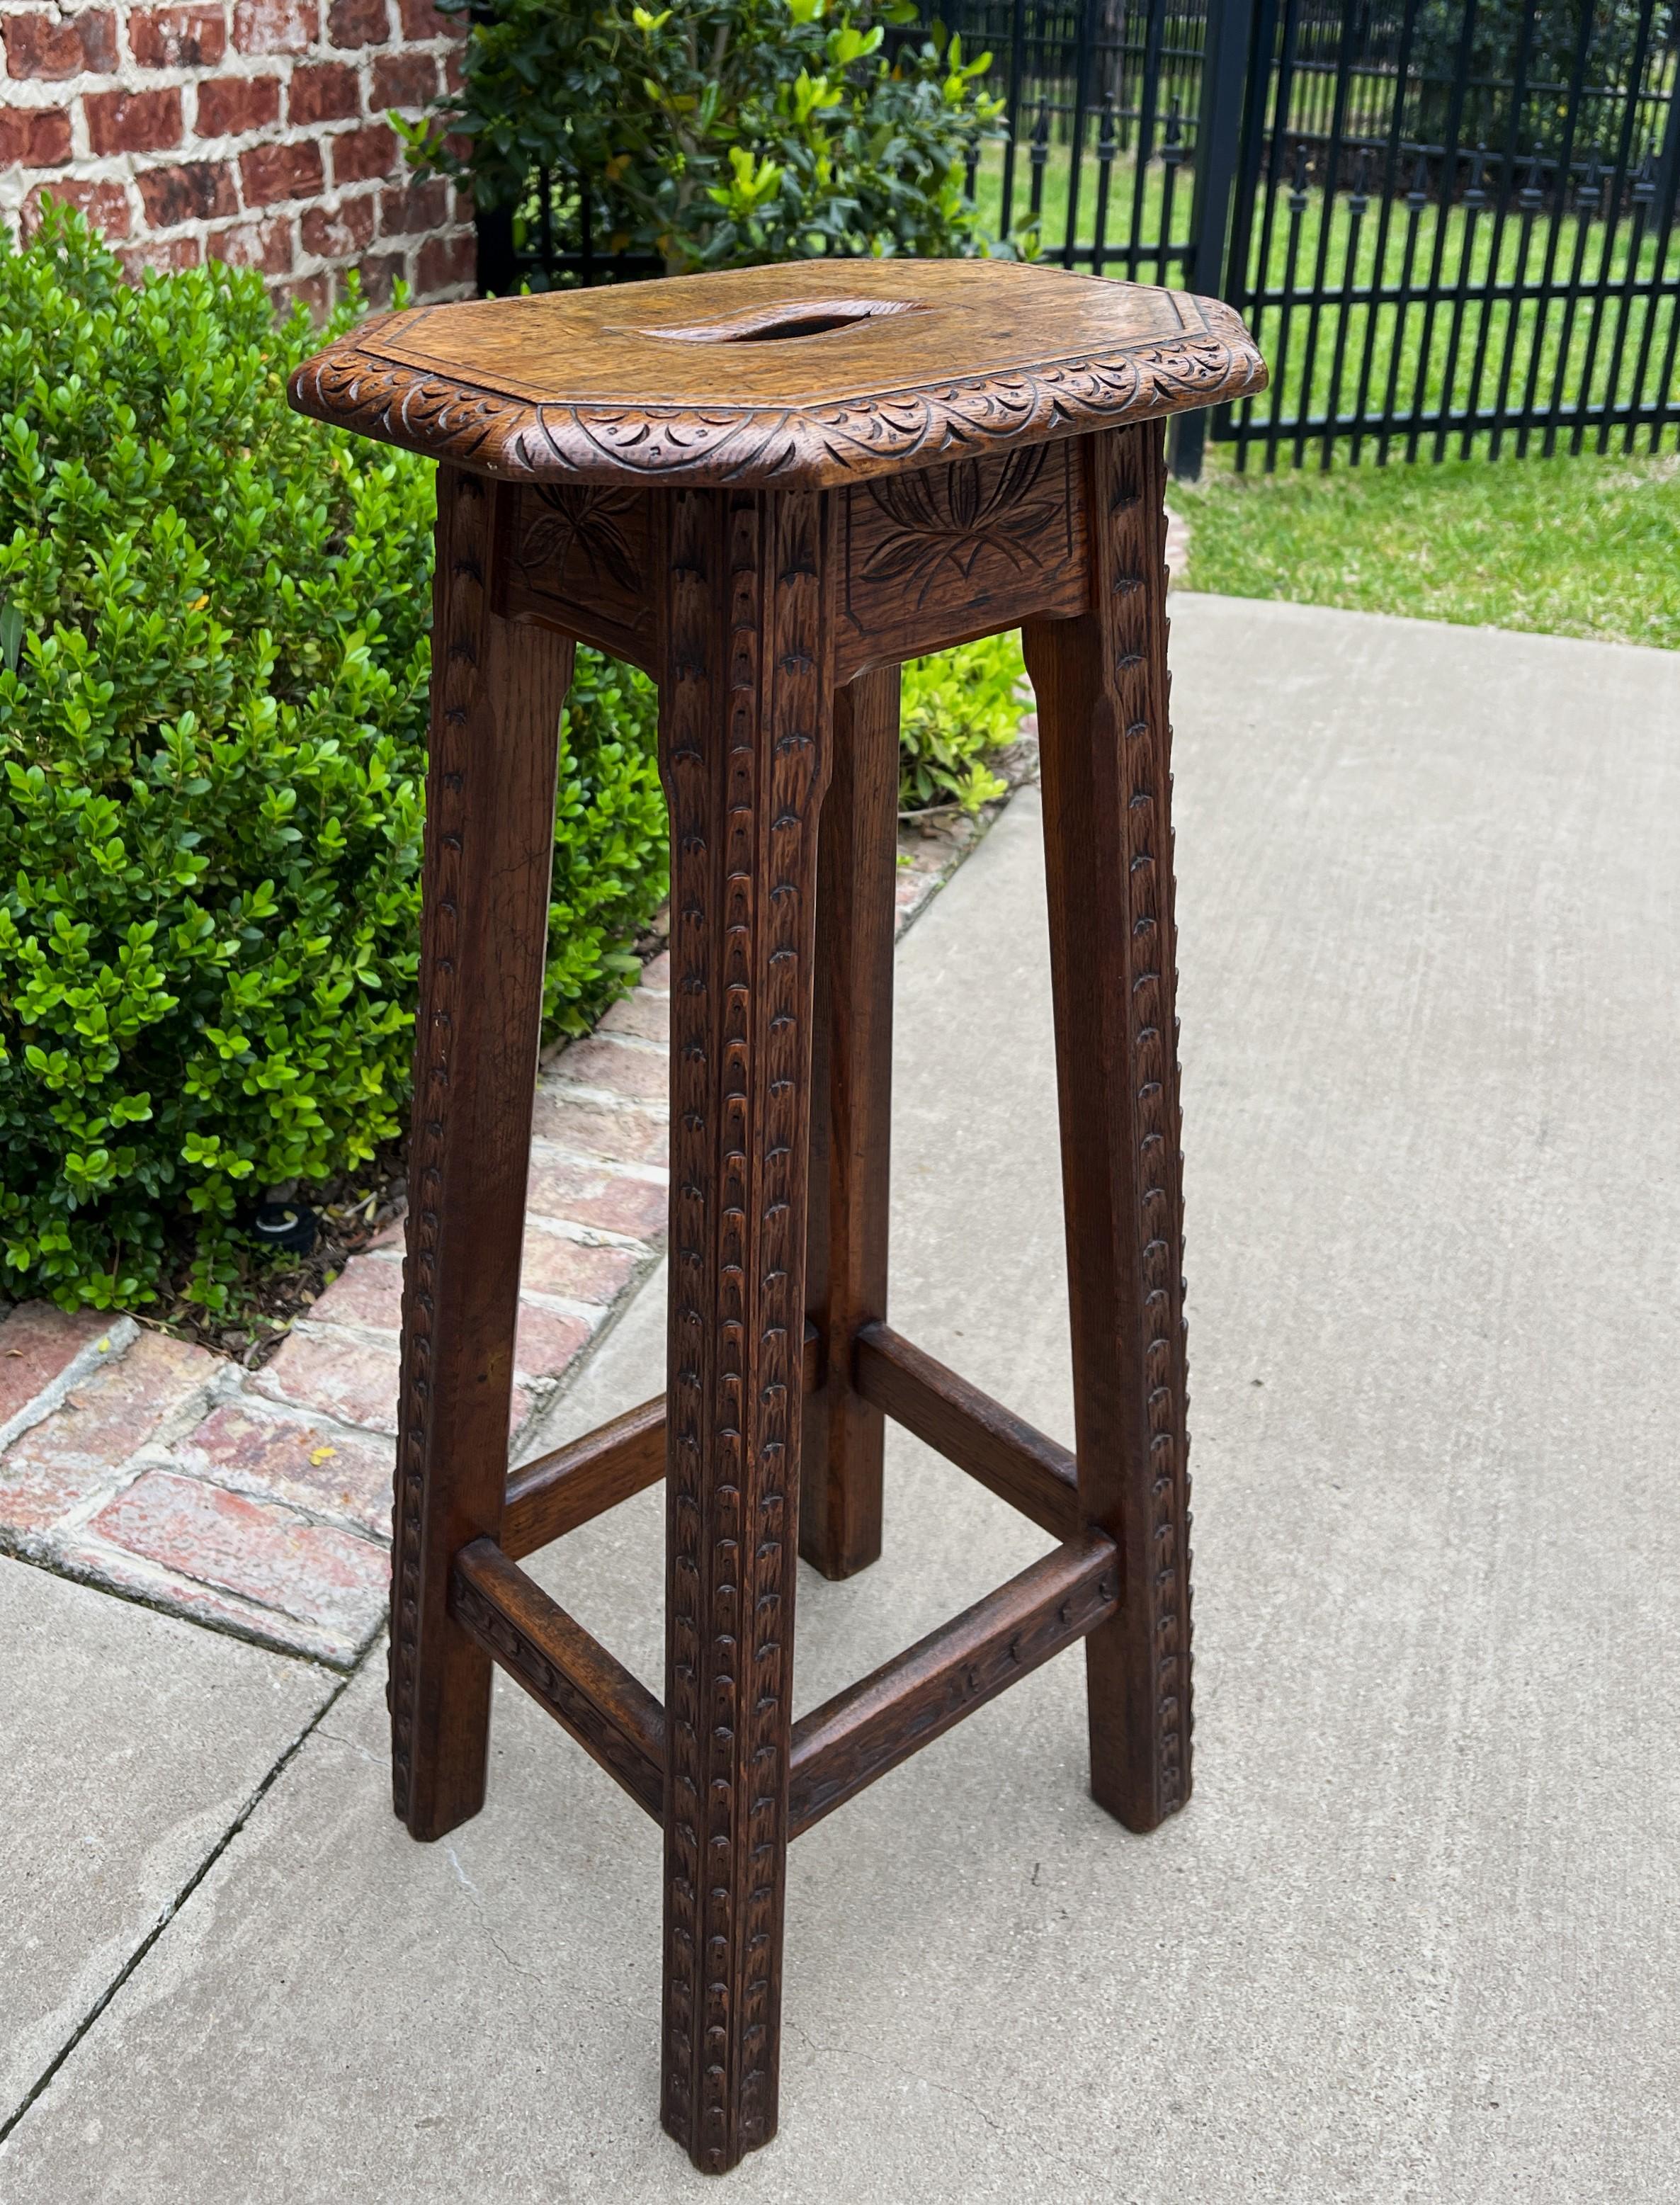
[[[346,309],[342,322],[353,313]],[[0,234],[0,1281],[225,1305],[260,1191],[397,1136],[432,467],[284,401],[256,273]],[[650,688],[580,655],[545,1008],[664,893]]]

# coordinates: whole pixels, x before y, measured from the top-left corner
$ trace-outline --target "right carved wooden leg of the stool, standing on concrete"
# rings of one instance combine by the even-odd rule
[[[1118,1544],[1091,1790],[1191,1793],[1191,1552],[1160,423],[1087,439],[1096,611],[1025,628],[1038,692],[1080,1502]]]

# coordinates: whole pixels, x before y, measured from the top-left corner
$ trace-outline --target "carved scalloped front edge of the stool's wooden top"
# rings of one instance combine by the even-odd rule
[[[523,397],[392,357],[381,346],[406,318],[381,315],[306,359],[289,395],[298,412],[503,481],[816,490],[1263,390],[1266,362],[1239,315],[1171,295],[1184,322],[1171,337],[838,399],[739,404]]]

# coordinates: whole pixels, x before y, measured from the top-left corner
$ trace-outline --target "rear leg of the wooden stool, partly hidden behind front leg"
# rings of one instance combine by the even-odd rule
[[[897,692],[884,666],[836,697],[818,836],[805,1312],[822,1385],[805,1402],[798,1546],[825,1577],[882,1550],[884,1418],[851,1383],[851,1343],[886,1316]]]

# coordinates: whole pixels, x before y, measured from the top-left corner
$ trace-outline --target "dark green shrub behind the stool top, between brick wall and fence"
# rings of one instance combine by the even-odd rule
[[[562,234],[672,276],[818,254],[977,254],[968,161],[1001,115],[990,55],[915,35],[908,0],[441,0],[467,33],[461,90],[406,126],[414,157],[470,176],[481,207],[560,179]],[[445,132],[465,139],[459,157]],[[564,238],[575,243],[575,238]]]

